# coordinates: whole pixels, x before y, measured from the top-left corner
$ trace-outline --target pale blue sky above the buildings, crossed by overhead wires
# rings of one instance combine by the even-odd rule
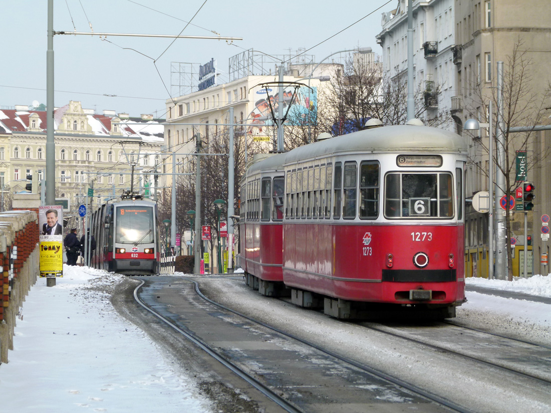
[[[94,32],[176,35],[186,25],[182,20],[189,21],[197,13],[183,35],[213,36],[214,30],[222,36],[243,37],[233,45],[179,39],[161,56],[171,39],[113,36],[102,41],[98,36],[56,35],[55,105],[80,100],[84,108],[98,113],[115,110],[131,116],[164,116],[164,100],[171,92],[171,62],[203,64],[214,58],[226,81],[229,57],[249,48],[273,55],[311,48],[307,54],[315,55],[316,61],[357,46],[380,53],[375,36],[381,30],[381,14],[397,3],[387,1],[55,0],[56,31],[73,31],[74,22],[76,31],[88,32],[90,22]],[[0,107],[46,103],[47,1],[0,0],[0,5]]]

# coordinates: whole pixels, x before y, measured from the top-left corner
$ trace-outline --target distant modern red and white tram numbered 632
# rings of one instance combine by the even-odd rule
[[[157,204],[141,195],[122,195],[110,200],[91,216],[96,249],[94,268],[125,275],[159,274],[160,243]]]

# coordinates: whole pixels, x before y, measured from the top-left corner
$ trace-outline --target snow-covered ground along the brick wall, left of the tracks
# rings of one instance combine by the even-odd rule
[[[67,265],[63,273],[54,287],[37,280],[23,303],[14,350],[0,366],[2,412],[211,411],[102,292],[122,275]]]

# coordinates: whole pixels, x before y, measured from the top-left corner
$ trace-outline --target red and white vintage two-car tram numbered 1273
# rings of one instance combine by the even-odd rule
[[[455,317],[466,160],[459,135],[408,124],[256,162],[241,180],[247,284],[337,318],[375,303]]]

